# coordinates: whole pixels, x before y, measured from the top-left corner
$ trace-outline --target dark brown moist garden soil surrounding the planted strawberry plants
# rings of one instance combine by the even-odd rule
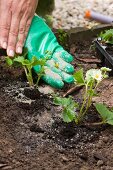
[[[73,44],[75,70],[97,68],[100,61],[89,42]],[[113,106],[112,78],[98,89],[94,101]],[[40,86],[45,86],[41,82]],[[65,85],[65,94],[73,85]],[[72,96],[81,102],[82,89]],[[78,99],[79,97],[79,99]],[[98,121],[92,107],[87,122]],[[113,127],[76,126],[61,118],[61,107],[51,95],[30,89],[23,70],[0,63],[0,169],[1,170],[113,170]]]

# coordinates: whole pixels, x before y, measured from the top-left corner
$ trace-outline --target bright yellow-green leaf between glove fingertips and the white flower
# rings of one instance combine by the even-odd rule
[[[80,69],[79,71],[75,72],[73,75],[75,82],[78,84],[84,84],[84,76],[83,76],[83,69]]]

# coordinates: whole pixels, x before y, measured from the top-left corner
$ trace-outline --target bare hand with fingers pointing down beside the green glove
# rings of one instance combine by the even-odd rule
[[[38,0],[0,0],[0,46],[7,55],[22,53]]]

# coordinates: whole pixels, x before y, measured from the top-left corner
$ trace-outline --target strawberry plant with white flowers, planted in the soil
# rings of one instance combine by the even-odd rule
[[[97,87],[100,82],[108,77],[107,72],[111,69],[102,67],[101,69],[90,69],[83,74],[83,69],[77,71],[73,76],[76,85],[84,86],[83,102],[81,105],[77,104],[72,98],[54,97],[54,103],[61,105],[63,108],[62,115],[65,122],[75,121],[79,124],[83,121],[88,109],[92,104],[93,96],[97,95]],[[76,111],[76,112],[75,112]]]

